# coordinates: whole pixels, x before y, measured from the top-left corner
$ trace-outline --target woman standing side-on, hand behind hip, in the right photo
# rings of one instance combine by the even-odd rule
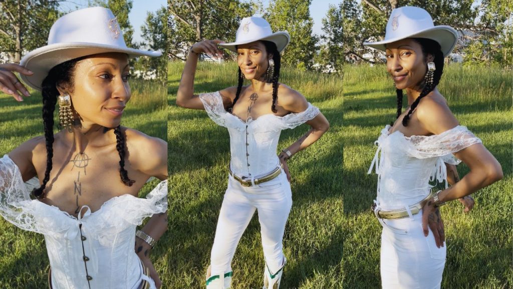
[[[378,196],[374,213],[383,226],[381,281],[383,288],[440,288],[446,249],[438,246],[428,228],[437,208],[502,178],[502,169],[481,140],[449,110],[437,89],[444,57],[456,45],[457,32],[433,26],[431,16],[418,7],[394,9],[385,40],[364,43],[385,51],[387,71],[397,88],[397,120],[381,131],[376,165]],[[402,90],[408,107],[402,109]],[[378,158],[381,151],[381,157]],[[429,180],[447,182],[445,162],[452,154],[470,172],[433,194]],[[435,214],[433,214],[436,212]],[[443,245],[443,244],[442,244]]]

